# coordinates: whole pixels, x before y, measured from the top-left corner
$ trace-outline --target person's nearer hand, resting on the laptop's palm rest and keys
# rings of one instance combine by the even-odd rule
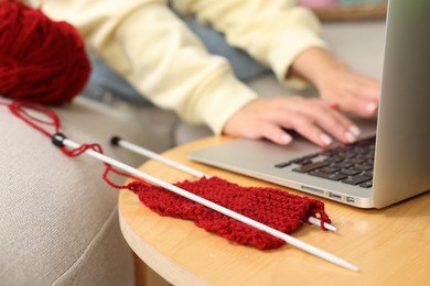
[[[236,112],[225,124],[224,134],[248,139],[266,138],[278,144],[288,144],[291,129],[325,147],[332,136],[343,143],[353,143],[359,129],[333,106],[322,99],[302,97],[259,98]]]

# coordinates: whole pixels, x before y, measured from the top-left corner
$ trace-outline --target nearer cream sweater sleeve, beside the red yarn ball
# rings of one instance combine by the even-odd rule
[[[206,52],[166,1],[43,0],[42,10],[74,24],[88,48],[154,105],[216,134],[257,97],[226,59]]]

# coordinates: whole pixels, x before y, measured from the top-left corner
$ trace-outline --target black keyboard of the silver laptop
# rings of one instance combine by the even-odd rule
[[[275,166],[283,168],[292,165],[293,172],[370,188],[374,156],[375,136],[357,141],[354,144],[326,148]]]

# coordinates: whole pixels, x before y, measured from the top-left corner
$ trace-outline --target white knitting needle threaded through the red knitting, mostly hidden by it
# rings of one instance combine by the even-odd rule
[[[146,156],[146,157],[149,157],[149,158],[152,158],[152,160],[157,160],[161,163],[164,163],[171,167],[174,167],[174,168],[178,168],[180,170],[183,170],[185,173],[189,173],[193,176],[196,176],[196,177],[211,177],[209,175],[205,174],[205,173],[202,173],[197,169],[194,169],[194,168],[191,168],[189,166],[185,166],[183,164],[180,164],[178,162],[174,162],[173,160],[170,160],[170,158],[166,158],[166,157],[163,157],[163,156],[160,156],[159,154],[152,152],[152,151],[149,151],[144,147],[141,147],[139,145],[136,145],[131,142],[128,142],[119,136],[114,136],[111,138],[110,140],[110,143],[115,146],[121,146],[123,148],[127,148],[129,151],[132,151],[135,153],[138,153],[142,156]],[[308,220],[309,223],[312,223],[316,227],[321,227],[321,220],[318,219],[318,218],[314,218],[314,217],[310,217],[309,220]],[[332,224],[330,223],[326,223],[324,222],[324,228],[326,228],[327,230],[331,230],[331,231],[336,231],[337,229],[335,227],[333,227]]]

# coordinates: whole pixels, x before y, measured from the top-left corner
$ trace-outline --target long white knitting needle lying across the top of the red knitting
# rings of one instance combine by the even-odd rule
[[[53,136],[53,142],[54,142],[55,145],[63,144],[64,146],[72,147],[72,148],[77,148],[77,147],[80,146],[79,144],[77,144],[77,143],[66,139],[64,135],[58,134],[58,133]],[[338,266],[345,267],[345,268],[354,271],[354,272],[358,272],[359,271],[359,268],[357,266],[355,266],[355,265],[353,265],[353,264],[351,264],[351,263],[348,263],[348,262],[346,262],[346,261],[344,261],[344,260],[342,260],[342,258],[340,258],[340,257],[337,257],[337,256],[335,256],[335,255],[333,255],[333,254],[331,254],[331,253],[329,253],[326,251],[323,251],[323,250],[321,250],[319,248],[315,248],[315,246],[313,246],[311,244],[308,244],[308,243],[305,243],[305,242],[303,242],[301,240],[298,240],[298,239],[295,239],[293,237],[290,237],[290,235],[288,235],[288,234],[286,234],[283,232],[280,232],[280,231],[278,231],[276,229],[272,229],[272,228],[270,228],[270,227],[268,227],[266,224],[262,224],[262,223],[260,223],[260,222],[258,222],[256,220],[252,220],[252,219],[250,219],[248,217],[245,217],[245,216],[243,216],[240,213],[237,213],[237,212],[235,212],[235,211],[233,211],[230,209],[227,209],[227,208],[225,208],[223,206],[219,206],[219,205],[217,205],[215,202],[212,202],[212,201],[209,201],[207,199],[198,197],[198,196],[196,196],[196,195],[194,195],[194,194],[192,194],[190,191],[186,191],[185,189],[179,188],[179,187],[176,187],[176,186],[174,186],[172,184],[169,184],[166,182],[163,182],[161,179],[152,177],[152,176],[150,176],[150,175],[148,175],[148,174],[137,169],[137,168],[133,168],[133,167],[131,167],[129,165],[126,165],[126,164],[123,164],[123,163],[121,163],[121,162],[119,162],[117,160],[108,157],[108,156],[106,156],[106,155],[104,155],[101,153],[98,153],[98,152],[94,151],[94,150],[87,150],[87,151],[85,151],[85,154],[87,154],[89,156],[93,156],[93,157],[95,157],[97,160],[100,160],[100,161],[103,161],[103,162],[105,162],[107,164],[110,164],[110,165],[112,165],[112,166],[115,166],[117,168],[120,168],[120,169],[122,169],[122,170],[125,170],[125,172],[127,172],[127,173],[129,173],[131,175],[135,175],[135,176],[139,177],[139,178],[142,178],[142,179],[148,180],[148,182],[150,182],[152,184],[155,184],[155,185],[158,185],[160,187],[169,189],[169,190],[171,190],[171,191],[173,191],[173,193],[175,193],[175,194],[178,194],[178,195],[180,195],[182,197],[185,197],[185,198],[187,198],[190,200],[198,202],[198,204],[201,204],[201,205],[203,205],[203,206],[205,206],[205,207],[207,207],[209,209],[213,209],[215,211],[218,211],[218,212],[221,212],[221,213],[223,213],[223,215],[225,215],[225,216],[227,216],[229,218],[238,220],[238,221],[240,221],[240,222],[243,222],[245,224],[248,224],[250,227],[254,227],[254,228],[256,228],[258,230],[265,231],[265,232],[267,232],[267,233],[269,233],[269,234],[271,234],[273,237],[277,237],[277,238],[286,241],[290,245],[293,245],[293,246],[295,246],[298,249],[301,249],[301,250],[303,250],[303,251],[305,251],[308,253],[311,253],[311,254],[313,254],[313,255],[315,255],[315,256],[318,256],[318,257],[320,257],[322,260],[329,261],[329,262],[331,262],[333,264],[336,264]]]

